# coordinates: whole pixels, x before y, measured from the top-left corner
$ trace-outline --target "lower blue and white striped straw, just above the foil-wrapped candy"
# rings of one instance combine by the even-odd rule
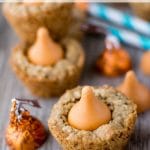
[[[128,30],[110,26],[106,23],[103,23],[93,18],[89,19],[88,23],[103,28],[104,31],[106,31],[108,34],[112,34],[113,36],[116,36],[121,42],[125,44],[129,44],[144,50],[150,49],[150,38],[141,36],[139,34],[136,34]]]

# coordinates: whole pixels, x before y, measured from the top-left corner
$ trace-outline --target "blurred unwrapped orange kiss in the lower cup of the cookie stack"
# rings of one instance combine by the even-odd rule
[[[37,39],[28,51],[29,60],[36,65],[54,65],[63,58],[61,46],[55,43],[44,27],[37,31]]]

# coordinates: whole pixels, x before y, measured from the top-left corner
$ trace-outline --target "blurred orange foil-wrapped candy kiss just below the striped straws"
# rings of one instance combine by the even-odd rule
[[[112,40],[112,39],[111,39]],[[118,76],[131,69],[131,58],[127,51],[116,44],[116,39],[107,40],[106,48],[99,56],[96,65],[106,76]]]

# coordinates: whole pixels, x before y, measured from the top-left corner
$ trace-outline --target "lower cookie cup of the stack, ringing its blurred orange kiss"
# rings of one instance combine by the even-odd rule
[[[26,55],[29,45],[17,46],[11,56],[11,65],[16,75],[37,96],[58,96],[77,85],[83,66],[84,51],[74,39],[61,42],[64,58],[53,66],[32,64]]]

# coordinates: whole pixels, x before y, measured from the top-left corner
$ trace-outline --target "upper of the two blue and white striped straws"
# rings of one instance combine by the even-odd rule
[[[103,4],[96,3],[89,3],[88,12],[92,16],[150,36],[150,23],[139,19],[138,17],[129,15]]]

